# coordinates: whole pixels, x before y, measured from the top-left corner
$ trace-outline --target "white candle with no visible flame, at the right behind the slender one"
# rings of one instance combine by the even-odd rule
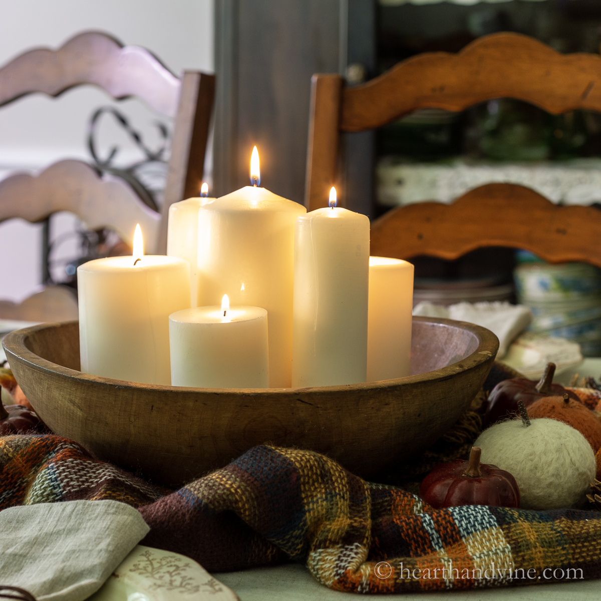
[[[370,257],[367,319],[367,381],[409,376],[413,308],[413,265]]]

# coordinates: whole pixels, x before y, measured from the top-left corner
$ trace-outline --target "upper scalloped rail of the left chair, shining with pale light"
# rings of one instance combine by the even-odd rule
[[[115,99],[136,96],[168,117],[177,114],[182,86],[148,50],[87,31],[58,50],[29,50],[0,67],[0,106],[26,94],[58,96],[84,84],[97,85]]]

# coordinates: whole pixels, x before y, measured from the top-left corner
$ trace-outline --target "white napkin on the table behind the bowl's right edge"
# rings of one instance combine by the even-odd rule
[[[499,359],[505,356],[509,345],[532,321],[532,313],[528,307],[501,301],[474,304],[460,302],[450,307],[423,301],[413,307],[413,315],[456,319],[459,322],[475,323],[477,326],[488,328],[499,339]]]

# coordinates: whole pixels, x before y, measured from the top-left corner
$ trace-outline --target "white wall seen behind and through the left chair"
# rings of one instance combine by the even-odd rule
[[[144,46],[174,73],[213,72],[213,0],[19,0],[2,2],[0,66],[32,47],[61,46],[88,29],[106,31],[123,44]],[[76,88],[58,99],[36,94],[0,108],[0,178],[15,169],[37,171],[54,160],[88,158],[86,127],[94,109],[118,105],[148,144],[157,141],[152,121],[162,115],[137,100],[115,103],[101,90]],[[121,164],[141,159],[109,118],[100,127],[101,148],[124,148]],[[74,219],[59,216],[52,237],[72,230]],[[0,299],[19,302],[40,282],[40,225],[11,220],[0,224]],[[71,251],[75,252],[75,246]],[[69,248],[66,249],[69,252]]]

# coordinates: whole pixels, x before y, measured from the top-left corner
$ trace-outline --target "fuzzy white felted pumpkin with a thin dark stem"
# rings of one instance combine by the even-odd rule
[[[556,419],[528,419],[526,414],[525,419],[504,421],[484,430],[474,446],[482,449],[483,463],[513,475],[523,509],[581,505],[596,474],[587,439]]]

